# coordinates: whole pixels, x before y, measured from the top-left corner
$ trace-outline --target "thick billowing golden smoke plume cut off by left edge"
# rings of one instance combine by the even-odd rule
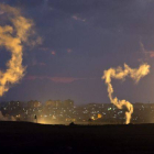
[[[23,43],[32,31],[33,22],[21,15],[20,10],[7,4],[0,4],[0,12],[10,22],[9,25],[0,26],[0,46],[11,52],[11,59],[7,63],[7,70],[0,70],[0,96],[7,92],[12,84],[18,82],[25,72],[22,66]]]

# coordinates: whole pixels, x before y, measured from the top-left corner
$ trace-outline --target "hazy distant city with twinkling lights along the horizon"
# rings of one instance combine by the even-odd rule
[[[133,103],[134,112],[131,123],[153,123],[154,103]],[[0,102],[0,120],[30,121],[48,124],[122,124],[125,121],[125,111],[117,109],[111,103],[88,103],[75,106],[74,100],[47,100],[41,103],[37,100],[28,102]]]

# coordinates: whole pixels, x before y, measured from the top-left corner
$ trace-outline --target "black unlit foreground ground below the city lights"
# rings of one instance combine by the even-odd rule
[[[154,124],[66,127],[0,122],[0,153],[154,154]]]

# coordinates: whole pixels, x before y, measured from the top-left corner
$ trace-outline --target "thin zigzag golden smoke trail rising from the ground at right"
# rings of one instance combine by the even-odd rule
[[[113,87],[111,85],[111,78],[114,79],[124,79],[127,76],[131,77],[135,82],[146,76],[150,73],[150,65],[143,64],[138,69],[130,68],[127,64],[124,64],[124,69],[121,67],[118,68],[109,68],[103,72],[102,79],[105,79],[106,85],[108,86],[108,94],[111,103],[113,103],[118,109],[122,109],[123,106],[127,107],[128,111],[125,112],[125,124],[129,124],[131,121],[131,116],[133,113],[133,105],[127,100],[119,100],[117,97],[113,98]]]

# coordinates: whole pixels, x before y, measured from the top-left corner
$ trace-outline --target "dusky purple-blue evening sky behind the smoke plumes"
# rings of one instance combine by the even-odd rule
[[[24,47],[24,78],[3,100],[73,99],[76,105],[109,102],[101,79],[110,67],[139,67],[151,74],[135,85],[113,80],[114,96],[131,102],[154,102],[153,0],[0,0],[20,8],[35,23],[43,43]],[[143,44],[144,48],[141,46]],[[0,51],[0,69],[10,53]]]

